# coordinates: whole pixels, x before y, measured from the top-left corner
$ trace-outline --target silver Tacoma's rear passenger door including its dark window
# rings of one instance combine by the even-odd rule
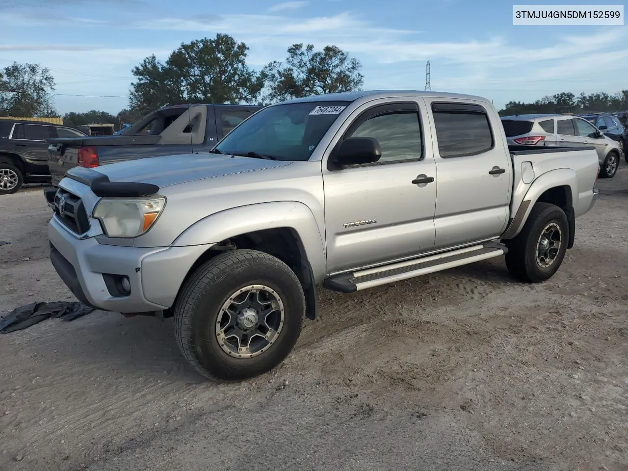
[[[426,99],[431,108],[438,175],[435,249],[499,236],[506,227],[512,163],[499,116],[479,102]]]

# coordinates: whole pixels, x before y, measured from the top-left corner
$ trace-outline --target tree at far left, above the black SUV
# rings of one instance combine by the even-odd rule
[[[39,64],[14,62],[0,73],[0,116],[55,116],[53,90],[55,79],[50,70]]]

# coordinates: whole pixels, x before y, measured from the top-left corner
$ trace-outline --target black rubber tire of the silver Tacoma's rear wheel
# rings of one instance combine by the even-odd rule
[[[554,225],[554,227],[551,227]],[[546,228],[560,231],[560,246],[556,250],[553,261],[544,264],[537,249],[541,252],[541,236]],[[508,248],[506,266],[515,278],[526,283],[539,283],[553,276],[563,263],[567,243],[569,241],[569,224],[565,212],[556,205],[536,203],[530,212],[526,224],[514,239],[504,241]],[[547,260],[546,260],[547,262]],[[546,265],[546,266],[544,266]]]

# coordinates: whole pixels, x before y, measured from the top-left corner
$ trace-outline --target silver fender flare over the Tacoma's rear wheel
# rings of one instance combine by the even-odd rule
[[[502,239],[512,239],[517,236],[517,234],[521,232],[521,229],[523,229],[524,224],[526,224],[534,204],[536,204],[544,192],[555,187],[570,188],[571,194],[568,195],[567,199],[568,205],[573,206],[573,198],[578,195],[578,180],[575,171],[571,170],[571,168],[558,168],[543,173],[543,175],[534,180],[530,188],[528,188],[526,195],[521,201],[521,205],[519,205]]]

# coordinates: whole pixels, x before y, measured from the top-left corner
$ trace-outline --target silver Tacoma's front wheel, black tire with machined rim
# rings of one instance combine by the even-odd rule
[[[279,259],[229,251],[200,266],[175,303],[176,340],[203,376],[244,379],[290,354],[305,319],[305,296]]]

